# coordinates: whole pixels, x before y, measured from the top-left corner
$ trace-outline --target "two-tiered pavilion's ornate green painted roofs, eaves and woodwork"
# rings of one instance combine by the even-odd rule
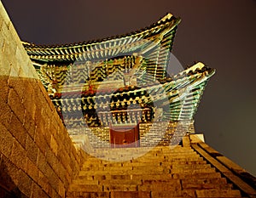
[[[179,22],[166,14],[147,28],[117,37],[23,45],[71,135],[86,134],[90,128],[107,143],[126,144],[128,138],[113,140],[109,133],[136,126],[140,133],[128,141],[132,143],[142,139],[143,128],[152,123],[167,123],[166,133],[177,122],[193,125],[204,88],[215,71],[199,62],[177,74],[167,72],[172,71],[171,49]],[[107,138],[102,135],[104,127]],[[169,143],[170,138],[166,139]]]

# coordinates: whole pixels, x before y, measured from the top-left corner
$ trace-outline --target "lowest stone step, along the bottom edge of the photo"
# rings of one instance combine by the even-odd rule
[[[172,188],[172,190],[170,189]],[[77,190],[79,188],[79,190]],[[99,191],[96,191],[99,190]],[[154,183],[150,181],[144,185],[77,185],[71,186],[67,198],[75,197],[102,197],[102,198],[175,198],[175,197],[241,197],[239,190],[207,189],[182,190],[179,183]]]

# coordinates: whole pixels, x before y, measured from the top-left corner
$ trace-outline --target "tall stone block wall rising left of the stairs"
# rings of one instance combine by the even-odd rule
[[[76,150],[0,2],[0,196],[65,197]]]

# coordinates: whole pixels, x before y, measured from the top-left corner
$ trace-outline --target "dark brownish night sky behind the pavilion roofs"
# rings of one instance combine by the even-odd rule
[[[136,31],[167,12],[182,18],[172,53],[217,70],[195,116],[207,144],[256,176],[255,0],[2,0],[20,38],[38,44]]]

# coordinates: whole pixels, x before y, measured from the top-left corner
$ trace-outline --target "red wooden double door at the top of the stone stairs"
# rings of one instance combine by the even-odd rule
[[[139,127],[137,126],[110,126],[111,148],[139,147]]]

